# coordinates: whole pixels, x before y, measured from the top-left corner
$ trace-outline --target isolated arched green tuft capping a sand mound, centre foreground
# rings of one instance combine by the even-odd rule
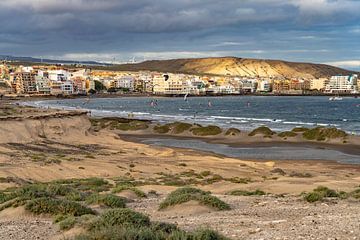
[[[230,206],[219,198],[210,195],[209,192],[197,188],[185,187],[171,192],[167,198],[160,203],[159,209],[182,204],[191,200],[198,201],[200,204],[215,208],[217,210],[229,210]]]

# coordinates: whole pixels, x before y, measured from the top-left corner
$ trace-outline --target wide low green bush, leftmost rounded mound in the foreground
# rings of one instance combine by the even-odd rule
[[[67,214],[72,216],[95,214],[91,208],[84,207],[77,202],[53,198],[31,200],[25,205],[25,209],[35,214]]]

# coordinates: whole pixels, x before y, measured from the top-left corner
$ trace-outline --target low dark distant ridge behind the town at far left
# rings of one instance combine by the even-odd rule
[[[13,61],[13,62],[22,62],[22,63],[44,63],[44,64],[82,64],[82,65],[110,65],[105,63],[99,63],[95,61],[73,61],[73,60],[54,60],[54,59],[41,59],[41,58],[33,58],[33,57],[15,57],[15,56],[7,56],[0,55],[0,61]]]

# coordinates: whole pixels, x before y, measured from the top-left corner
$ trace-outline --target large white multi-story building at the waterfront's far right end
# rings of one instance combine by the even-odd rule
[[[325,87],[327,93],[356,93],[358,76],[356,74],[350,76],[332,76],[329,83]]]

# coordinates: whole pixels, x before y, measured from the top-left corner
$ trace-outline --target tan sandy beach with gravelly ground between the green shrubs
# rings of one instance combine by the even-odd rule
[[[176,223],[185,230],[208,226],[231,239],[357,239],[359,200],[332,199],[305,202],[300,194],[318,186],[350,192],[359,187],[360,165],[331,161],[249,161],[190,149],[150,146],[131,141],[132,136],[161,137],[149,129],[123,131],[99,127],[86,112],[1,106],[0,189],[58,179],[99,177],[113,181],[129,177],[143,181],[139,188],[157,195],[139,199],[131,194],[129,207],[152,220]],[[156,124],[155,124],[156,125]],[[167,135],[169,137],[169,134]],[[178,134],[190,138],[189,133]],[[204,141],[233,146],[297,144],[359,154],[359,137],[302,141],[300,137],[271,139],[263,136],[201,137]],[[207,172],[208,177],[197,179]],[[185,174],[186,173],[186,174]],[[167,176],[167,181],[164,180]],[[170,181],[171,180],[171,181]],[[159,183],[161,184],[154,184]],[[174,183],[175,181],[175,183]],[[232,207],[218,212],[189,202],[167,211],[158,204],[174,189],[191,185],[211,191]],[[261,189],[265,196],[230,196],[232,190]],[[18,231],[23,229],[24,231]],[[24,235],[24,232],[31,232]],[[61,239],[62,232],[48,217],[23,210],[0,212],[1,239]]]

